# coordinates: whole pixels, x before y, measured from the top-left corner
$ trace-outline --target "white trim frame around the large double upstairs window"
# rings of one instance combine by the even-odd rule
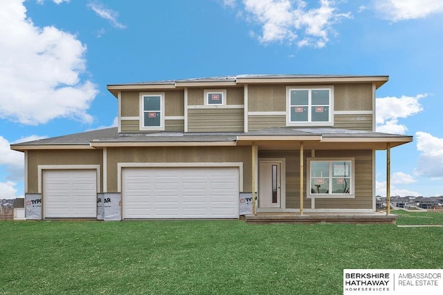
[[[329,90],[329,122],[291,122],[291,90]],[[309,116],[309,115],[308,115]],[[286,87],[286,126],[334,126],[334,86],[287,86]]]

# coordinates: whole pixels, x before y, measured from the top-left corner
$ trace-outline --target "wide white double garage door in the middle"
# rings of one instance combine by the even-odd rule
[[[238,218],[239,169],[124,168],[123,218]]]

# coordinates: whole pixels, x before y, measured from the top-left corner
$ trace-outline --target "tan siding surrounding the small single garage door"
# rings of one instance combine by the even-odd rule
[[[28,193],[38,192],[39,165],[100,165],[102,166],[102,150],[42,150],[28,151]],[[103,171],[100,171],[103,175]],[[102,184],[103,182],[100,181]],[[102,189],[102,187],[100,188]]]

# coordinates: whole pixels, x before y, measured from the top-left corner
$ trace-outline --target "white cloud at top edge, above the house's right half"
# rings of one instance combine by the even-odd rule
[[[224,1],[233,7],[233,1]],[[318,8],[307,8],[298,0],[242,0],[250,19],[262,26],[258,38],[263,43],[296,41],[299,47],[325,47],[332,26],[341,19],[351,18],[350,12],[338,13],[334,0],[320,0]]]

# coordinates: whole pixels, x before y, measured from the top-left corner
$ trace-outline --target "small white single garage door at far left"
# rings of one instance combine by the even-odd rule
[[[43,172],[45,218],[96,218],[96,170]]]

